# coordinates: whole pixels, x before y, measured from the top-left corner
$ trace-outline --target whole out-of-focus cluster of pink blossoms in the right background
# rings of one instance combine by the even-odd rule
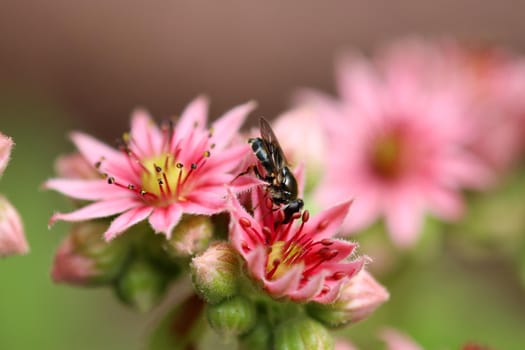
[[[383,219],[396,245],[412,246],[428,215],[459,219],[462,191],[488,188],[523,152],[521,57],[406,39],[372,58],[342,55],[336,80],[338,98],[304,91],[298,100],[317,111],[330,150],[318,204],[355,200],[347,233]]]

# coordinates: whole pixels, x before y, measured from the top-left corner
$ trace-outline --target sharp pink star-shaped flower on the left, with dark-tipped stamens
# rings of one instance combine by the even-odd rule
[[[255,107],[235,107],[206,128],[208,102],[197,98],[177,123],[157,127],[143,110],[131,118],[131,131],[120,150],[73,133],[82,156],[106,179],[51,179],[45,186],[69,197],[94,203],[56,220],[84,221],[118,215],[104,233],[110,240],[148,219],[155,232],[170,236],[183,213],[212,215],[226,208],[226,184],[246,152],[247,144],[231,146],[240,125]],[[236,181],[237,189],[249,177]],[[249,180],[249,179],[248,179]]]

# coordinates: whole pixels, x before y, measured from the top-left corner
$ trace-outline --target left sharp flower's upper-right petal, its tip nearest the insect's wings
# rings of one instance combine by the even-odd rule
[[[220,150],[231,142],[248,114],[253,111],[255,107],[257,107],[255,101],[236,106],[213,123],[212,142],[215,143],[215,149]]]

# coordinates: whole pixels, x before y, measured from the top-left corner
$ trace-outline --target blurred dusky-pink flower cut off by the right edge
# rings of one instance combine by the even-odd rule
[[[525,148],[525,59],[498,48],[453,49],[471,92],[477,128],[472,147],[496,171],[505,171]]]

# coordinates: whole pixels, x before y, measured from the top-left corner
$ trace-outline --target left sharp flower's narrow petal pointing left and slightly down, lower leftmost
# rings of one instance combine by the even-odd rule
[[[140,202],[131,198],[119,198],[95,202],[78,210],[72,211],[71,213],[56,213],[49,220],[49,225],[52,225],[56,220],[84,221],[95,218],[103,218],[122,213],[126,210],[137,207],[140,204]]]

